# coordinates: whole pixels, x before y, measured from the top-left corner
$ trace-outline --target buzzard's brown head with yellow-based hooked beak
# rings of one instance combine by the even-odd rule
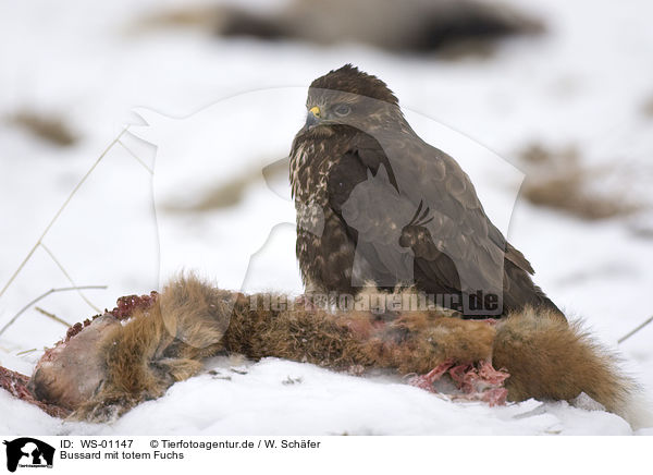
[[[402,120],[398,100],[387,85],[352,64],[315,80],[306,101],[307,131],[325,132],[334,125],[360,130]]]

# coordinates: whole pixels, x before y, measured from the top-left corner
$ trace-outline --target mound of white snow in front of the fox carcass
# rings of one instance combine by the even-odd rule
[[[464,435],[470,427],[478,435],[588,435],[589,427],[630,433],[614,414],[566,403],[545,404],[542,413],[538,412],[542,404],[534,400],[494,409],[452,404],[401,381],[364,380],[276,358],[245,367],[246,375],[223,369],[220,363],[213,367],[231,380],[202,375],[175,385],[162,399],[143,404],[101,434],[137,428],[138,435]],[[288,378],[300,382],[282,383]],[[162,412],[170,406],[186,410]]]

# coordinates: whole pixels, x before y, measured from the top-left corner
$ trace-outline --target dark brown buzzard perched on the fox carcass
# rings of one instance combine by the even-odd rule
[[[352,64],[315,80],[289,154],[307,293],[412,287],[465,317],[562,312],[490,221],[469,176]]]

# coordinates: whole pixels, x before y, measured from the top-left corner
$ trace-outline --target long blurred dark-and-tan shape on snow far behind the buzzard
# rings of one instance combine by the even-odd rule
[[[278,8],[184,8],[150,25],[205,27],[218,35],[291,39],[319,45],[366,44],[394,52],[488,53],[493,41],[541,33],[532,15],[470,0],[295,0]]]

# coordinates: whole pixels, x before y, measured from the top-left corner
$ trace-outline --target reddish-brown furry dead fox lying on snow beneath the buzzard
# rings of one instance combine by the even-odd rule
[[[126,324],[102,330],[89,325],[56,348],[37,366],[29,388],[38,401],[73,412],[73,418],[106,421],[161,397],[198,373],[204,358],[235,352],[356,374],[372,368],[423,374],[446,362],[491,361],[510,375],[508,400],[570,400],[584,391],[616,413],[626,410],[633,390],[608,353],[552,312],[526,309],[496,325],[438,309],[383,321],[370,312],[272,310],[264,302],[270,300],[263,295],[181,279],[150,308],[136,308]],[[93,364],[71,365],[71,357]]]

